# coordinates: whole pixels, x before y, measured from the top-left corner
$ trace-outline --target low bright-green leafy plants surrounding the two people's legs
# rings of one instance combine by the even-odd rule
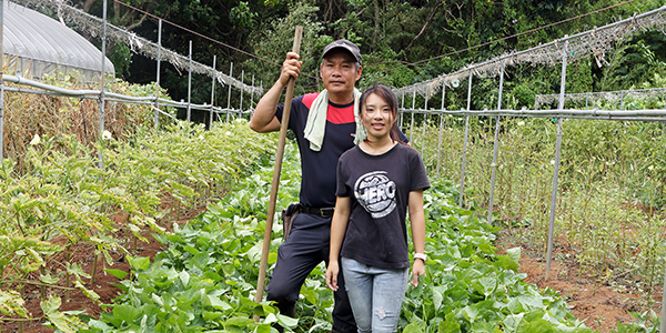
[[[297,194],[293,147],[285,161],[281,208]],[[265,162],[194,221],[176,226],[173,234],[158,235],[169,248],[153,262],[131,258],[124,293],[113,311],[89,319],[85,332],[271,332],[274,323],[293,332],[327,332],[333,297],[323,265],[301,290],[297,319],[253,301],[272,176],[272,161]],[[496,229],[458,209],[456,196],[451,183],[440,181],[425,194],[427,271],[420,286],[407,291],[400,331],[592,332],[554,291],[525,283],[525,275],[515,272],[519,249],[497,255],[492,245]],[[273,231],[269,264],[275,262],[282,242],[280,225]],[[253,315],[261,320],[252,321]]]

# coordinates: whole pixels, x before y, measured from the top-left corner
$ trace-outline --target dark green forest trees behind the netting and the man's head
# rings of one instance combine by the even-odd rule
[[[102,1],[72,2],[91,14],[102,14]],[[163,47],[189,54],[189,41],[192,40],[194,61],[209,64],[213,56],[216,56],[215,68],[219,71],[229,73],[233,63],[235,78],[244,72],[245,83],[250,84],[253,79],[255,85],[261,84],[264,89],[270,88],[280,73],[284,54],[292,47],[294,27],[303,26],[303,75],[297,81],[296,95],[322,89],[317,72],[321,52],[329,42],[340,38],[346,38],[361,48],[363,77],[360,88],[374,82],[401,88],[454,72],[470,63],[525,50],[663,6],[656,0],[122,2],[140,11],[123,6],[120,0],[109,1],[109,21],[112,24],[125,27],[139,36],[157,41],[158,20],[154,17],[160,17],[167,22],[162,28]],[[539,29],[561,21],[564,22]],[[531,32],[524,33],[527,31]],[[518,36],[507,38],[516,34]],[[604,54],[601,62],[591,56],[587,61],[569,64],[566,92],[612,91],[664,84],[664,33],[643,32],[630,40],[617,40],[613,47],[613,51]],[[117,77],[133,83],[150,83],[155,80],[154,60],[133,54],[127,44],[110,46],[108,56],[115,64]],[[173,100],[188,98],[186,73],[164,64],[161,75],[160,83]],[[504,95],[511,103],[504,105],[532,108],[535,94],[558,93],[559,84],[557,69],[531,64],[508,68]],[[210,78],[193,75],[192,87],[193,101],[210,101]],[[215,93],[214,104],[226,104],[225,89],[216,89],[219,92]],[[495,105],[496,102],[492,99],[496,94],[492,91],[496,91],[496,87],[475,84],[473,89],[473,110]],[[231,104],[238,105],[239,99],[239,93],[232,93]],[[460,109],[466,103],[462,89],[457,93],[448,93],[446,99],[446,108],[450,110]],[[437,97],[431,101],[432,105],[440,104]],[[204,121],[206,118],[204,112],[192,117],[194,121]]]

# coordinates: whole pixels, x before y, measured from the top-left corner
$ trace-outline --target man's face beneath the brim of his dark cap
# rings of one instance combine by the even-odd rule
[[[352,92],[361,79],[362,68],[356,68],[354,56],[343,49],[333,49],[322,61],[321,75],[324,88],[332,93]]]

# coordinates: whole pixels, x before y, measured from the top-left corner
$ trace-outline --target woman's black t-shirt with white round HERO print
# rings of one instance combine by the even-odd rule
[[[405,218],[410,192],[428,189],[418,152],[396,144],[381,155],[359,145],[340,157],[337,196],[350,196],[352,211],[342,256],[383,269],[410,266]]]

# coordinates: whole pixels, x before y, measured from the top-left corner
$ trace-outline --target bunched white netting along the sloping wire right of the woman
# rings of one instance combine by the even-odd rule
[[[408,87],[394,89],[397,95],[410,95],[414,92],[423,98],[431,98],[442,89],[443,84],[455,88],[462,80],[470,77],[470,71],[475,77],[493,78],[500,74],[502,62],[506,65],[531,63],[532,65],[554,65],[562,63],[566,53],[567,61],[576,61],[593,54],[597,64],[607,65],[606,53],[615,41],[626,39],[640,31],[658,30],[666,34],[666,6],[634,16],[630,19],[619,20],[615,23],[595,28],[576,36],[555,40],[547,44],[513,51],[493,58],[482,63],[470,64],[454,73],[441,74],[435,79],[418,82]]]

